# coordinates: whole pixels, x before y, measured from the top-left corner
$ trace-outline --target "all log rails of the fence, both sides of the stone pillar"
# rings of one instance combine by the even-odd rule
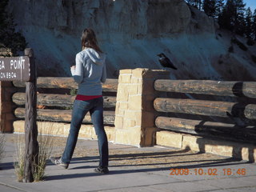
[[[14,82],[14,114],[25,117],[23,82]],[[38,120],[70,122],[74,102],[73,78],[38,78]],[[114,126],[118,79],[103,84],[104,123]],[[256,144],[256,83],[158,79],[156,91],[168,97],[154,99],[155,125],[162,130]],[[164,94],[164,95],[165,95]],[[146,104],[150,105],[150,103]],[[120,107],[119,107],[120,108]],[[90,114],[83,123],[91,123]]]

